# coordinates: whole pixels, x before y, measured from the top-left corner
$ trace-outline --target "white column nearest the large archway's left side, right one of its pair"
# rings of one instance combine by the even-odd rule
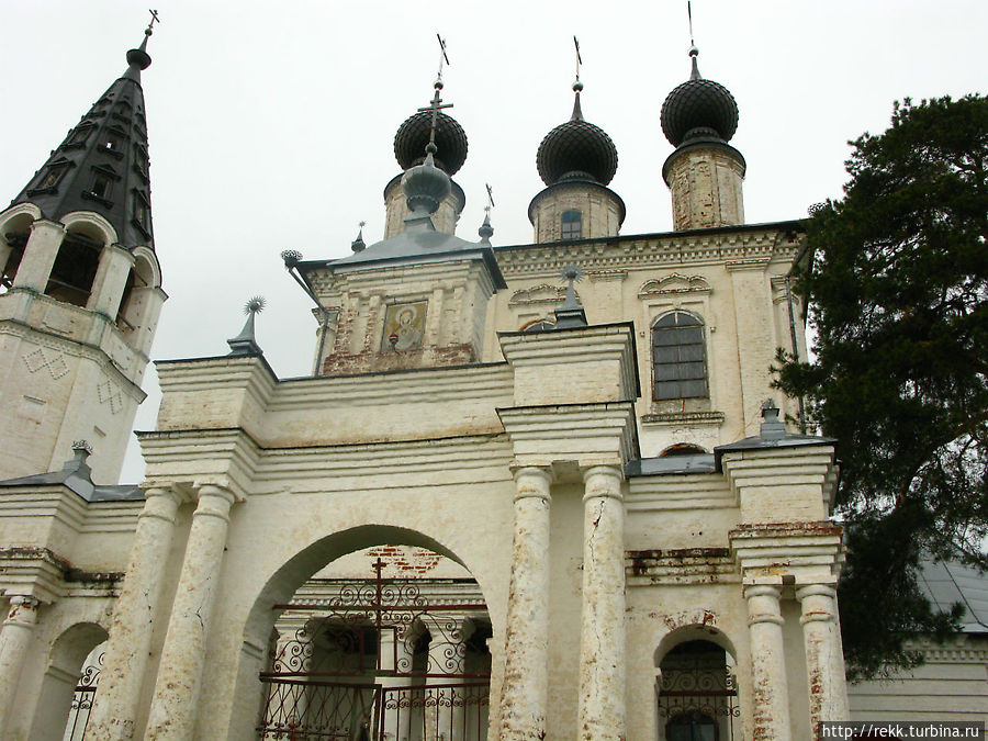
[[[199,490],[145,739],[192,738],[213,596],[233,502],[233,493],[220,486]]]

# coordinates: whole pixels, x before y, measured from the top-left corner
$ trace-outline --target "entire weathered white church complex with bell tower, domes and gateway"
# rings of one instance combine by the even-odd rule
[[[538,149],[532,243],[457,236],[467,136],[439,81],[397,130],[384,239],[283,255],[312,375],[276,377],[254,313],[228,353],[157,361],[146,480],[106,483],[167,299],[146,44],[0,213],[2,741],[988,717],[984,617],[936,649],[968,699],[849,705],[837,442],[771,385],[777,348],[806,357],[789,276],[810,255],[799,221],[744,222],[738,106],[695,52],[662,110],[674,232],[620,234],[577,82]]]

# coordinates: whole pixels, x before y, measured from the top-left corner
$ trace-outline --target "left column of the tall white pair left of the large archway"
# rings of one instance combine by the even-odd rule
[[[134,717],[160,607],[165,562],[175,535],[178,494],[170,489],[150,489],[145,496],[110,626],[100,692],[87,726],[87,734],[101,741],[126,741],[136,736]]]

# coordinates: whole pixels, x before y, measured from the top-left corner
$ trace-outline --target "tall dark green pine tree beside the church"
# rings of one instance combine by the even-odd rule
[[[988,568],[988,99],[907,99],[851,145],[798,277],[816,359],[781,356],[777,384],[839,440],[841,629],[864,677],[956,629],[959,606],[922,596],[923,559]]]

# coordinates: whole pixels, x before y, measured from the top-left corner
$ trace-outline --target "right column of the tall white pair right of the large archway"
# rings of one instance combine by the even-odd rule
[[[583,620],[579,729],[583,741],[625,738],[625,505],[622,474],[583,474]]]

